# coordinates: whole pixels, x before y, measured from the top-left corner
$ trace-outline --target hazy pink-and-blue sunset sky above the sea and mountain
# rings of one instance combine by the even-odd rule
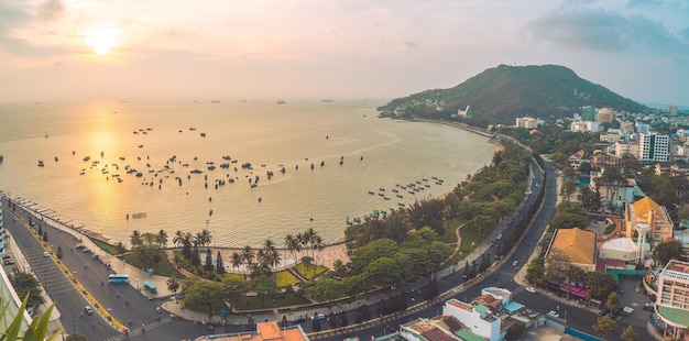
[[[500,64],[689,106],[689,1],[0,1],[0,102],[392,99]]]

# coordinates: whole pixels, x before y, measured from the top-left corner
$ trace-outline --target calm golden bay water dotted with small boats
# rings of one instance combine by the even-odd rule
[[[378,117],[384,100],[0,103],[0,190],[48,221],[129,244],[208,229],[214,246],[282,246],[451,191],[485,136]]]

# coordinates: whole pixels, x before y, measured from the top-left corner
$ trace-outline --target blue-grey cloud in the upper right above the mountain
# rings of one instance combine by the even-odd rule
[[[535,19],[527,24],[526,30],[537,43],[551,43],[572,50],[689,52],[689,44],[671,34],[660,21],[622,12],[602,8],[561,7]]]

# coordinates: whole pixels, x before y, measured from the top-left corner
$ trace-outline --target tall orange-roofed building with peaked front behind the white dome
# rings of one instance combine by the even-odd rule
[[[655,243],[672,239],[672,219],[665,207],[659,206],[649,197],[627,204],[624,210],[625,235],[627,238],[634,235],[635,227],[639,223],[650,227],[648,239]]]

